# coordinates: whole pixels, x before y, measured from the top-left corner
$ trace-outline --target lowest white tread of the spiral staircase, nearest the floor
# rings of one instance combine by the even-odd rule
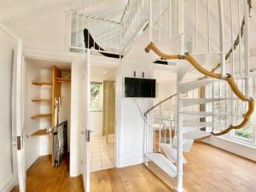
[[[177,167],[168,160],[163,154],[148,154],[148,159],[152,160],[157,166],[160,167],[170,177],[177,177]]]

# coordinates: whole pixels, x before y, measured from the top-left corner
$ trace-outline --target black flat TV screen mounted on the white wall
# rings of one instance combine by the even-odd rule
[[[125,97],[155,97],[155,79],[125,78]]]

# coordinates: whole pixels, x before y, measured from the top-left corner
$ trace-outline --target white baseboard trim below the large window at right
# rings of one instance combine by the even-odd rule
[[[214,147],[222,148],[232,154],[238,154],[249,160],[256,161],[256,148],[247,146],[242,143],[230,141],[224,137],[210,137],[204,140],[205,143],[211,144]]]

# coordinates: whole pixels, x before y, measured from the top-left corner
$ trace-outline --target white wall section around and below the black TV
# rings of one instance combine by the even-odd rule
[[[117,146],[118,157],[117,166],[131,166],[143,162],[143,118],[139,109],[137,108],[138,102],[140,108],[145,110],[153,105],[153,99],[132,99],[124,98],[123,79],[124,77],[133,77],[133,71],[137,72],[137,77],[142,77],[145,73],[145,78],[153,78],[153,69],[149,63],[138,64],[125,61],[121,64],[118,70],[117,82],[117,96],[118,119],[117,137],[119,146]]]

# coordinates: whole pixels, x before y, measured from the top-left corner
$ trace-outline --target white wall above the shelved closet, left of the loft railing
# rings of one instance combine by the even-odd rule
[[[14,30],[24,41],[25,48],[65,51],[68,47],[66,21],[66,12],[56,9]]]

